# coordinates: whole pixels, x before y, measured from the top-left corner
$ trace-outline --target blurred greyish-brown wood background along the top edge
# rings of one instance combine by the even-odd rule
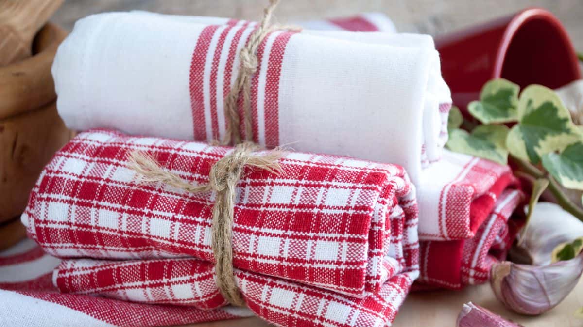
[[[267,0],[67,0],[54,22],[72,29],[75,20],[92,13],[150,10],[181,15],[257,20]],[[276,20],[315,19],[378,11],[394,20],[399,31],[440,35],[510,15],[529,6],[551,10],[567,27],[575,47],[583,51],[583,0],[282,0]]]

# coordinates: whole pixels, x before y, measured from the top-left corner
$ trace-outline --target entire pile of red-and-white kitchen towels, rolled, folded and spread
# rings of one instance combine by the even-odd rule
[[[233,151],[212,141],[228,130],[224,99],[257,24],[146,12],[76,23],[52,72],[59,114],[83,132],[45,167],[23,215],[42,250],[0,254],[3,297],[23,313],[58,311],[23,324],[255,314],[282,326],[390,325],[415,280],[487,279],[523,196],[508,166],[444,150],[451,98],[432,38],[391,33],[373,14],[307,25],[322,30],[276,30],[257,49],[251,135],[243,120],[241,134],[299,152],[285,152],[279,173],[245,168],[237,183],[239,308],[216,284],[216,194],[143,183],[128,157],[146,152],[188,183],[209,182]],[[371,33],[324,31],[334,27]]]

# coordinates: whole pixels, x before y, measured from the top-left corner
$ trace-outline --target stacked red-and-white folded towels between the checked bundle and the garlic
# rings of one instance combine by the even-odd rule
[[[450,289],[486,282],[521,225],[509,222],[524,199],[518,180],[508,166],[447,150],[422,178],[419,282]]]

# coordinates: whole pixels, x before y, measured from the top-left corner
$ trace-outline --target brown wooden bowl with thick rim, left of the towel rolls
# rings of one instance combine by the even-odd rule
[[[55,105],[51,65],[66,33],[47,24],[38,54],[0,68],[0,223],[22,214],[44,165],[73,136]]]

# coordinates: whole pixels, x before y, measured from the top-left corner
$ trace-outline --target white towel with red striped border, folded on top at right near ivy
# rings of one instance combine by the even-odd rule
[[[509,166],[445,150],[417,187],[419,239],[474,237],[503,191],[517,187]]]

